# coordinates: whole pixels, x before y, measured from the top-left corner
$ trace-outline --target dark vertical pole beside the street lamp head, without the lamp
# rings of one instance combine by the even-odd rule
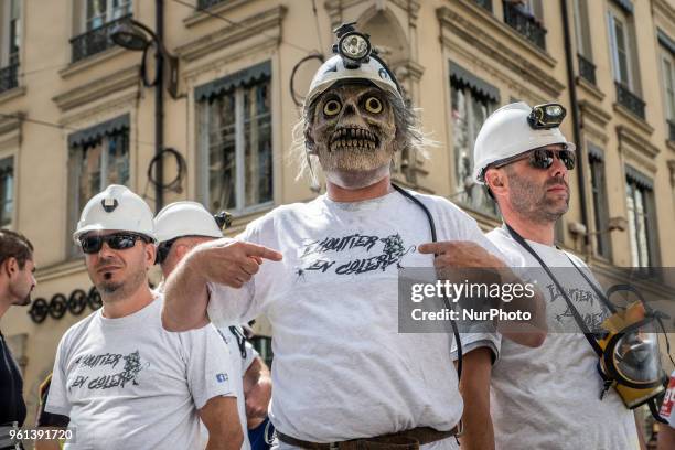
[[[154,33],[157,34],[158,45],[164,42],[164,2],[156,0],[156,23]],[[154,52],[157,69],[157,83],[154,85],[154,212],[162,208],[164,203],[164,167],[162,150],[164,149],[164,56],[162,51],[157,49]]]

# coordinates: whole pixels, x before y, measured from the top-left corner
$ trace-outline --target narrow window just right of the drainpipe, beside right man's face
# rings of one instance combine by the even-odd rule
[[[590,168],[591,195],[596,228],[596,251],[604,258],[610,257],[609,212],[604,181],[604,156],[602,150],[589,144],[588,164]]]

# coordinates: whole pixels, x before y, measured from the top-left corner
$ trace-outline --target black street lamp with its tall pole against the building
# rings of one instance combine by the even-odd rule
[[[150,163],[150,169],[153,163],[157,164],[154,170],[156,212],[162,208],[164,188],[164,170],[162,164],[162,156],[164,152],[164,58],[169,63],[169,86],[167,88],[171,97],[178,97],[178,58],[167,51],[162,42],[164,35],[163,19],[164,9],[162,0],[157,0],[157,34],[148,26],[133,19],[120,23],[110,34],[110,39],[117,45],[136,52],[143,52],[141,78],[144,86],[154,86],[154,157]],[[152,43],[154,43],[156,74],[154,79],[149,81],[146,67],[146,55]]]

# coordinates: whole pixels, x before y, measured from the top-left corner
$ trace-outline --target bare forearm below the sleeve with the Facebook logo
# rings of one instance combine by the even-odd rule
[[[237,411],[237,397],[213,397],[199,410],[208,430],[206,450],[239,450],[244,430]]]

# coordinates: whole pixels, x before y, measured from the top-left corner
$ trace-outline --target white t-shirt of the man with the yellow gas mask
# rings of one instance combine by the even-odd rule
[[[486,236],[510,266],[540,267],[506,229],[496,228]],[[567,277],[559,282],[568,290],[587,325],[592,328],[601,320],[599,314],[608,314],[564,251],[532,240],[527,243],[556,276]],[[582,260],[574,255],[569,257],[592,277]],[[500,357],[492,368],[491,385],[496,449],[636,449],[633,411],[623,405],[614,389],[608,390],[600,400],[602,379],[597,369],[598,356],[580,331],[560,332],[578,330],[578,325],[553,281],[539,288],[546,298],[549,324],[544,344],[531,349],[510,340],[496,343]]]

